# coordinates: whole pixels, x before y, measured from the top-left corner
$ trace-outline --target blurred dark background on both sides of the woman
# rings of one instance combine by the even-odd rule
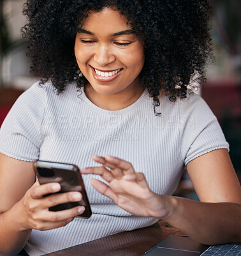
[[[24,0],[0,2],[0,126],[11,105],[38,81],[29,74],[24,26]],[[207,83],[200,89],[230,143],[235,170],[241,173],[241,1],[210,0],[215,63],[207,67]]]

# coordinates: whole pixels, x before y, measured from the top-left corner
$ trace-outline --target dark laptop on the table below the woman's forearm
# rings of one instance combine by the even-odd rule
[[[241,244],[219,244],[208,246],[190,237],[169,236],[155,244],[142,256],[198,256],[233,255],[241,256]]]

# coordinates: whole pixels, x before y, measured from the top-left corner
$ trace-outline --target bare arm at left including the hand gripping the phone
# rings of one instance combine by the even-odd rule
[[[27,243],[32,228],[48,230],[68,224],[83,207],[49,212],[48,207],[75,202],[78,192],[46,196],[60,190],[59,184],[35,182],[33,163],[0,154],[0,255],[15,255]],[[54,188],[53,186],[56,186]],[[78,195],[78,198],[74,198]]]

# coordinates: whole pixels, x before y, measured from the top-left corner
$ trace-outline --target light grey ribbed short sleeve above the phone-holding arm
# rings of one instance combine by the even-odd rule
[[[0,152],[23,161],[39,158],[45,88],[33,84],[17,99],[0,129]]]

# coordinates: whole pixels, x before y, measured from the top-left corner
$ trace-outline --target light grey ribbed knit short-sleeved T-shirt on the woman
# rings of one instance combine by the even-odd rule
[[[81,93],[82,92],[82,93]],[[23,161],[41,159],[98,166],[92,154],[120,157],[143,172],[155,193],[172,195],[184,164],[217,148],[228,148],[214,114],[200,96],[170,102],[161,96],[154,115],[147,90],[128,108],[108,111],[95,106],[69,84],[60,95],[52,84],[34,84],[15,102],[0,131],[0,152]],[[83,175],[91,202],[89,220],[75,218],[66,227],[33,230],[29,255],[61,250],[124,230],[147,227],[157,220],[120,209],[92,188],[95,175]],[[100,177],[96,177],[101,179]]]

